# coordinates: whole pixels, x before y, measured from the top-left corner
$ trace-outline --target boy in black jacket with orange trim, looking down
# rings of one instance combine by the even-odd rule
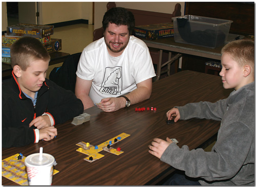
[[[2,87],[2,146],[19,147],[57,135],[55,124],[83,112],[75,94],[46,79],[50,55],[41,42],[23,37],[11,46],[13,77]]]

